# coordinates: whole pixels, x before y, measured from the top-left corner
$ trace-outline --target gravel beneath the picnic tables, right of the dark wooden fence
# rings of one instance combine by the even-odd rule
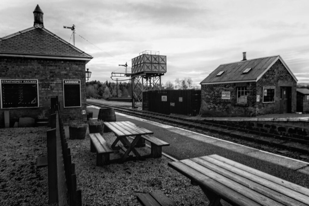
[[[112,132],[104,133],[104,139],[112,144],[115,136]],[[208,204],[201,189],[167,166],[171,160],[164,156],[98,167],[96,154],[90,152],[89,137],[69,140],[68,146],[72,162],[77,163],[75,170],[84,205],[140,205],[136,196],[155,190],[163,191],[176,205]],[[150,148],[138,151],[143,155],[150,153]],[[121,153],[113,153],[110,158],[119,158]]]

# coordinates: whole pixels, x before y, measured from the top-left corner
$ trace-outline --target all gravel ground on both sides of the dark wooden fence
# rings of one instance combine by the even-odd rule
[[[47,155],[48,129],[0,128],[0,205],[57,205],[48,204],[47,167],[36,167],[37,157]],[[115,136],[108,132],[104,138],[111,144]],[[167,166],[171,160],[164,156],[98,167],[88,136],[84,140],[68,139],[68,144],[83,205],[140,205],[136,196],[155,190],[163,191],[177,205],[208,204],[201,189]],[[138,151],[146,154],[150,148]],[[114,153],[111,159],[119,156]]]

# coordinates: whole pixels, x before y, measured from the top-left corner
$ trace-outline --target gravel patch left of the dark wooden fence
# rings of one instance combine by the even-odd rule
[[[0,128],[0,205],[57,205],[48,204],[47,167],[36,168],[47,129]]]

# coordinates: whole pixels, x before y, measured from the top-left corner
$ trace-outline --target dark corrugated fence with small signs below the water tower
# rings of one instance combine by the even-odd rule
[[[201,90],[154,90],[143,92],[143,109],[162,114],[196,116],[201,107]]]

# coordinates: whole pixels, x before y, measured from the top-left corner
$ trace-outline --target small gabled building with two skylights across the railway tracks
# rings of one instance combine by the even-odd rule
[[[297,79],[278,56],[219,65],[201,82],[201,114],[257,116],[296,112]]]

